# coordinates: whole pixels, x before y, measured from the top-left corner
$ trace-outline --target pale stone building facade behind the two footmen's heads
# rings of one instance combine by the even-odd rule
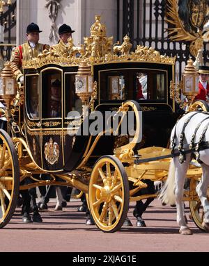
[[[72,35],[75,45],[83,43],[83,37],[89,35],[95,15],[102,15],[107,35],[116,37],[116,0],[17,0],[17,44],[25,41],[26,26],[31,22],[38,24],[43,31],[40,42],[56,43],[54,38],[49,40],[52,20],[49,18],[50,3],[48,8],[45,7],[48,2],[60,3],[55,21],[56,31],[63,23],[70,25],[75,30]]]

